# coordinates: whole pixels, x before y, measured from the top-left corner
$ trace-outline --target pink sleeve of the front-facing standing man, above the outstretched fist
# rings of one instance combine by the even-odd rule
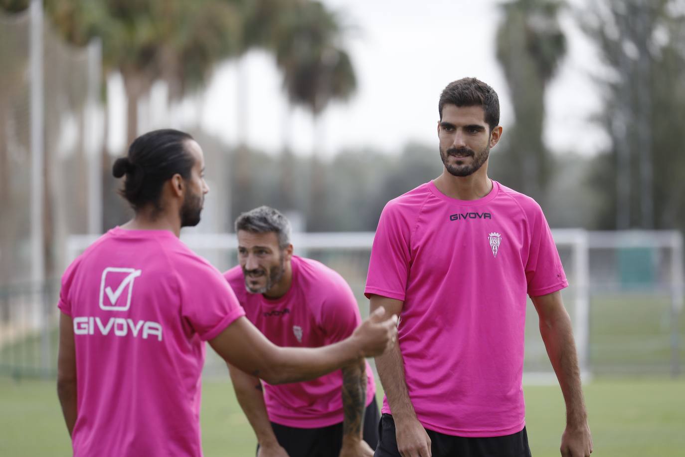
[[[364,288],[366,298],[375,294],[404,300],[411,260],[410,230],[401,207],[390,201],[381,213],[373,238]]]

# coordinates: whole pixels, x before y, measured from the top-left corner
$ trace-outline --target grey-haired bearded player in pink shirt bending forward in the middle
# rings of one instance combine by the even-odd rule
[[[320,347],[352,334],[361,318],[338,273],[292,255],[290,222],[261,206],[236,219],[238,266],[224,276],[251,321],[279,346]],[[364,360],[316,380],[273,386],[230,367],[258,457],[373,456],[378,407]],[[366,408],[366,410],[365,410]]]

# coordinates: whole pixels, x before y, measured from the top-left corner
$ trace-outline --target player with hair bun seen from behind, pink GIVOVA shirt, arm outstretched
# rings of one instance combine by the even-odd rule
[[[66,269],[58,397],[75,456],[201,456],[205,341],[270,384],[319,378],[381,354],[395,334],[376,313],[338,343],[277,347],[246,318],[221,273],[179,240],[208,187],[188,134],[156,130],[114,163],[135,217]]]

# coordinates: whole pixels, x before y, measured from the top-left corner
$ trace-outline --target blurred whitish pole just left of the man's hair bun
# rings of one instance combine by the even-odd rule
[[[102,42],[92,40],[88,45],[88,101],[86,102],[86,150],[88,157],[88,234],[102,233],[102,154],[98,136],[102,132],[99,116],[100,67]]]

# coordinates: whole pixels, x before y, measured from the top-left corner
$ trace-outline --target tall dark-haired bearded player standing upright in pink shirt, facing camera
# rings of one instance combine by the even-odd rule
[[[562,456],[592,452],[568,286],[540,206],[488,178],[497,93],[475,78],[438,103],[443,173],[389,201],[371,251],[371,310],[399,314],[376,358],[386,397],[375,456],[530,456],[523,402],[526,295],[566,402]]]

